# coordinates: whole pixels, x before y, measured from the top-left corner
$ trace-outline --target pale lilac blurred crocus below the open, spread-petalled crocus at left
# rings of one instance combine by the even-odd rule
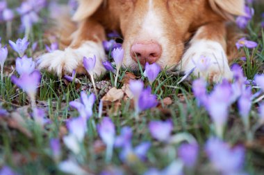
[[[82,117],[72,118],[67,121],[67,128],[72,136],[75,136],[79,142],[83,142],[83,138],[87,131],[87,120]]]

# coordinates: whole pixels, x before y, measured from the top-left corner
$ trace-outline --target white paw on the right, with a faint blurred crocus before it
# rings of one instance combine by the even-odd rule
[[[213,41],[192,42],[179,67],[186,72],[195,68],[195,76],[204,77],[211,82],[232,80],[233,77],[224,49],[221,44]]]

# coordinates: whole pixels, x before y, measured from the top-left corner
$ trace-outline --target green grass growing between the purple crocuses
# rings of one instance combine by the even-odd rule
[[[260,10],[256,5],[256,19],[251,21],[248,27],[248,39],[258,42],[258,48],[248,50],[245,48],[246,62],[238,59],[249,80],[254,78],[257,73],[263,73],[264,61],[264,31],[259,27],[260,19],[258,14]],[[42,17],[47,17],[47,11],[42,12]],[[13,22],[13,37],[17,39],[23,34],[15,34],[19,26],[19,20]],[[36,24],[33,28],[29,40],[31,44],[38,42],[38,50],[44,50],[44,30],[42,23]],[[5,25],[0,26],[0,36],[2,44],[6,44],[9,38],[5,37]],[[14,66],[17,55],[10,48],[8,60],[5,64],[5,71],[11,73],[10,66]],[[27,55],[34,57],[31,49],[28,49]],[[119,88],[129,70],[120,72]],[[14,73],[16,74],[16,73]],[[141,77],[147,84],[147,79],[142,76],[142,71],[135,73]],[[79,77],[83,84],[89,83],[89,77]],[[99,80],[108,80],[113,84],[113,78],[110,74],[101,77]],[[88,172],[99,174],[103,169],[111,169],[121,167],[124,174],[144,174],[149,167],[157,167],[163,169],[167,167],[177,156],[176,149],[179,143],[173,145],[165,145],[151,138],[148,123],[151,120],[170,119],[173,122],[173,135],[179,136],[179,133],[186,133],[193,136],[200,146],[199,161],[194,170],[186,172],[186,174],[215,174],[212,172],[210,163],[203,151],[206,140],[214,131],[212,128],[210,117],[204,108],[197,107],[197,102],[192,94],[192,85],[188,81],[178,82],[181,76],[170,75],[163,71],[158,76],[156,82],[152,86],[152,91],[158,96],[160,102],[159,107],[140,113],[140,120],[133,119],[133,107],[130,100],[121,100],[116,103],[109,104],[104,109],[104,116],[109,116],[115,123],[117,133],[124,126],[133,129],[133,145],[138,145],[142,141],[150,141],[151,149],[147,153],[147,161],[141,163],[136,161],[133,164],[124,164],[119,159],[119,149],[115,149],[113,160],[110,163],[105,161],[105,147],[101,145],[101,140],[97,133],[97,124],[101,119],[98,116],[99,100],[94,104],[94,113],[88,121],[88,132],[85,141],[82,143],[81,155],[74,155],[61,140],[62,136],[67,133],[65,120],[78,116],[77,111],[69,109],[69,102],[76,100],[80,95],[79,84],[66,84],[63,79],[56,77],[51,73],[42,71],[41,85],[38,91],[37,104],[45,109],[47,116],[51,120],[51,124],[44,128],[35,125],[28,113],[31,109],[28,103],[28,97],[22,90],[18,89],[12,82],[10,76],[4,77],[0,82],[0,108],[6,109],[9,113],[8,118],[0,118],[0,166],[8,165],[19,174],[63,174],[58,169],[58,163],[69,157],[74,157],[76,161]],[[212,89],[213,85],[208,89]],[[255,91],[255,89],[254,89]],[[171,98],[172,104],[165,105],[163,99]],[[263,100],[261,100],[262,102]],[[258,103],[254,104],[250,117],[251,125],[256,123]],[[16,116],[19,117],[16,117]],[[17,122],[17,123],[11,123]],[[49,147],[51,138],[60,138],[62,146],[62,154],[59,160],[53,158]],[[233,104],[229,111],[229,122],[224,133],[224,140],[231,145],[244,145],[247,149],[245,158],[245,170],[249,174],[261,174],[264,170],[264,149],[263,149],[264,132],[263,127],[254,133],[254,140],[247,142],[246,133],[242,125],[242,120],[238,114],[236,104]]]

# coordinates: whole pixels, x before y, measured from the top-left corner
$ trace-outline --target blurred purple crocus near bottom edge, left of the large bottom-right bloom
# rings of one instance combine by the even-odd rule
[[[179,158],[183,161],[186,167],[194,167],[199,154],[199,146],[197,143],[183,143],[178,149]]]

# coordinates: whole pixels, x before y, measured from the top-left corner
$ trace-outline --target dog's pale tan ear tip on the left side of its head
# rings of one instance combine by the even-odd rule
[[[78,0],[79,7],[76,10],[73,21],[82,21],[83,19],[90,17],[99,8],[104,0]]]

